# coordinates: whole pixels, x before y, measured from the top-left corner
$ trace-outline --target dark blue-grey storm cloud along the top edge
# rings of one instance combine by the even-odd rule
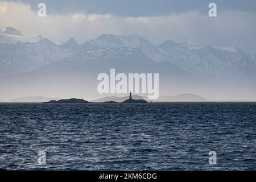
[[[219,12],[256,10],[255,0],[20,0],[14,2],[28,3],[34,11],[38,10],[38,3],[44,2],[49,14],[94,13],[118,16],[158,16],[187,11],[206,14],[210,2],[217,4]]]

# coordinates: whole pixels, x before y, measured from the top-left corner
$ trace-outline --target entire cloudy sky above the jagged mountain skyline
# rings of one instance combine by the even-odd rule
[[[46,17],[38,16],[40,2],[46,3]],[[208,15],[210,2],[217,5],[217,17]],[[254,0],[0,0],[0,28],[14,27],[23,35],[41,35],[53,42],[138,34],[154,44],[224,44],[256,53],[255,20]]]

